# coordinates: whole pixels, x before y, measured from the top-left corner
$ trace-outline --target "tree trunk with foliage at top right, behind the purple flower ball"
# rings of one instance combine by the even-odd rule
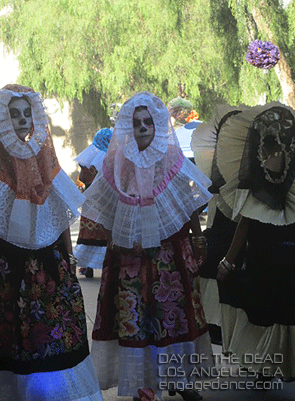
[[[261,94],[265,94],[265,101],[281,100],[295,108],[294,1],[284,7],[279,0],[211,0],[211,15],[216,15],[214,9],[221,8],[221,3],[235,18],[240,53],[243,54],[239,67],[242,101],[254,104]],[[218,16],[217,20],[218,27],[224,25]],[[230,32],[232,30],[223,30],[225,42],[232,40]],[[280,62],[268,74],[245,60],[247,46],[254,39],[272,42],[279,48]]]

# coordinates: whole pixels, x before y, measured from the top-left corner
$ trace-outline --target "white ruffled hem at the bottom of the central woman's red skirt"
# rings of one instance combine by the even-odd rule
[[[167,387],[164,390],[168,390],[169,382],[186,384],[188,381],[195,381],[197,377],[195,375],[190,376],[194,368],[201,371],[201,367],[203,369],[214,367],[212,353],[208,332],[194,341],[174,343],[166,347],[147,345],[145,348],[129,348],[120,346],[117,340],[93,340],[91,346],[91,356],[102,390],[118,386],[119,396],[132,397],[137,396],[138,388],[151,387],[159,399],[162,396],[162,390],[159,390],[159,382],[166,383]],[[183,358],[179,363],[171,361],[160,364],[160,354],[182,355]],[[190,355],[203,355],[202,364],[190,363]],[[163,377],[164,370],[176,366],[185,372],[185,376]],[[101,367],[105,369],[101,369]],[[159,369],[163,369],[161,371],[162,376],[159,376]],[[206,374],[201,374],[198,379],[206,379]]]

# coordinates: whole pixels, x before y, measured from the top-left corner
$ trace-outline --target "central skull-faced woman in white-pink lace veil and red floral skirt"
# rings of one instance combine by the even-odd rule
[[[162,390],[201,399],[185,385],[194,380],[190,354],[213,365],[197,274],[206,257],[197,209],[211,198],[209,184],[183,156],[159,98],[143,92],[124,103],[82,208],[109,241],[91,350],[103,389],[118,386],[118,395],[133,400],[142,387],[154,388],[159,400]],[[159,361],[176,354],[182,359]],[[181,374],[167,377],[169,367]]]

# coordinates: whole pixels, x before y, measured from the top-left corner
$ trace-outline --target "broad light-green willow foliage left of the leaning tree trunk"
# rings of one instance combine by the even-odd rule
[[[20,81],[81,101],[105,104],[135,91],[164,101],[190,98],[202,118],[237,96],[209,3],[202,0],[0,0],[1,40],[20,63]]]

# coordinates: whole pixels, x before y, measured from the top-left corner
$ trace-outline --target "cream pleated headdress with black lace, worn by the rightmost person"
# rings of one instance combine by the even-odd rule
[[[279,102],[227,108],[226,120],[222,117],[219,129],[211,130],[216,136],[203,125],[197,127],[192,141],[196,160],[210,171],[218,207],[232,219],[243,215],[275,225],[294,223],[294,110]],[[209,146],[210,137],[213,146]],[[208,165],[202,163],[206,146],[211,155]],[[279,158],[280,169],[272,171],[268,163]]]

